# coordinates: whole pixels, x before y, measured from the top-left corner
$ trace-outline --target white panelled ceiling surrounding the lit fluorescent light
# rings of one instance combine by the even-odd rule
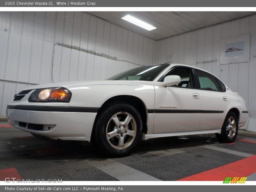
[[[208,27],[218,23],[239,19],[256,12],[88,12],[104,20],[129,29],[154,40],[179,35],[188,31]],[[123,19],[130,14],[156,29],[148,31]]]

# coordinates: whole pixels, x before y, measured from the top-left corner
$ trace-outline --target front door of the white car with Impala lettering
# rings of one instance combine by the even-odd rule
[[[178,75],[174,86],[155,86],[154,133],[197,131],[200,125],[201,97],[195,89],[192,68],[178,66],[165,76]]]

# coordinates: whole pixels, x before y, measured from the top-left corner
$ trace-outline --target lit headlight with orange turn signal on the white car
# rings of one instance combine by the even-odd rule
[[[71,92],[63,87],[36,89],[28,101],[30,102],[69,102]]]

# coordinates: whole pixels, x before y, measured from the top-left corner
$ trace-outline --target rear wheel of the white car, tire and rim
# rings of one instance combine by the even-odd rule
[[[228,112],[221,128],[221,133],[216,133],[216,138],[223,143],[232,143],[238,133],[238,119],[234,112]]]

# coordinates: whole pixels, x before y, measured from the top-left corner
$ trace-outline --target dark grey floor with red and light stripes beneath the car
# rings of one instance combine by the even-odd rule
[[[107,158],[82,141],[39,140],[0,122],[0,180],[256,180],[256,136],[231,144],[214,134],[142,141],[127,157]]]

